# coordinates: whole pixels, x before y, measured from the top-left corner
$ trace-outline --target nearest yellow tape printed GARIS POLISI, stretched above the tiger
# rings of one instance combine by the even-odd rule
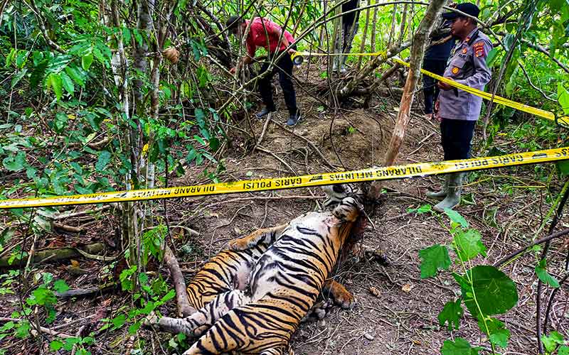
[[[346,182],[395,180],[402,178],[422,177],[427,175],[457,173],[469,170],[502,168],[513,165],[547,163],[568,159],[569,147],[565,147],[548,149],[546,151],[514,153],[494,157],[448,160],[437,163],[395,165],[382,168],[346,171],[341,173],[292,176],[289,178],[243,180],[208,185],[169,187],[152,190],[104,192],[90,195],[58,196],[40,199],[0,200],[0,209],[61,206],[65,204],[98,204],[140,200],[159,200],[164,198],[220,195],[235,192],[282,190],[297,187],[334,185]]]

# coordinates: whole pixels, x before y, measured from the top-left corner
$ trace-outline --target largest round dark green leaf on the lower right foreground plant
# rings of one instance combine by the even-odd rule
[[[514,307],[518,302],[516,284],[505,273],[494,266],[474,266],[467,271],[467,278],[472,280],[471,285],[460,283],[464,304],[472,315],[479,317],[474,295],[482,311],[482,315],[500,315]]]

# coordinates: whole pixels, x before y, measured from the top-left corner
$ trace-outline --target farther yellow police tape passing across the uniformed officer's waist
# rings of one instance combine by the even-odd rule
[[[372,56],[372,57],[377,57],[379,55],[382,55],[383,58],[385,58],[387,53],[385,51],[374,52],[374,53],[332,53],[332,54],[297,52],[297,53],[294,53],[293,55],[291,55],[292,62],[294,62],[294,64],[297,64],[297,65],[302,64],[302,55],[307,55],[307,56],[310,56],[310,55],[317,55],[317,56],[355,55],[355,56]],[[405,65],[405,67],[410,67],[409,62],[405,62],[404,60],[401,60],[400,58],[392,57],[391,60],[393,60],[394,62],[398,62],[400,65]],[[492,97],[492,94],[490,94],[488,92],[483,92],[482,90],[474,89],[474,87],[469,87],[467,85],[460,84],[459,82],[455,82],[454,80],[449,79],[447,77],[441,77],[440,75],[436,75],[434,72],[429,72],[429,71],[424,70],[424,69],[421,69],[421,72],[424,75],[427,75],[427,76],[432,77],[436,80],[439,80],[440,82],[445,82],[446,84],[449,84],[452,87],[456,87],[457,89],[464,90],[465,92],[469,92],[470,94],[477,95],[479,97],[482,97],[483,99],[493,101],[493,102],[496,102],[497,104],[502,104],[504,106],[511,107],[511,108],[517,109],[519,111],[524,111],[524,112],[527,112],[528,114],[533,114],[533,115],[542,117],[543,119],[550,119],[551,121],[555,121],[558,124],[563,124],[564,126],[569,127],[569,116],[563,116],[563,117],[556,118],[555,114],[553,114],[553,112],[551,112],[551,111],[545,111],[542,109],[538,109],[536,107],[528,106],[526,104],[521,104],[520,102],[515,102],[515,101],[512,101],[510,99],[506,99],[505,97],[500,97],[498,95],[495,95],[494,97]]]

